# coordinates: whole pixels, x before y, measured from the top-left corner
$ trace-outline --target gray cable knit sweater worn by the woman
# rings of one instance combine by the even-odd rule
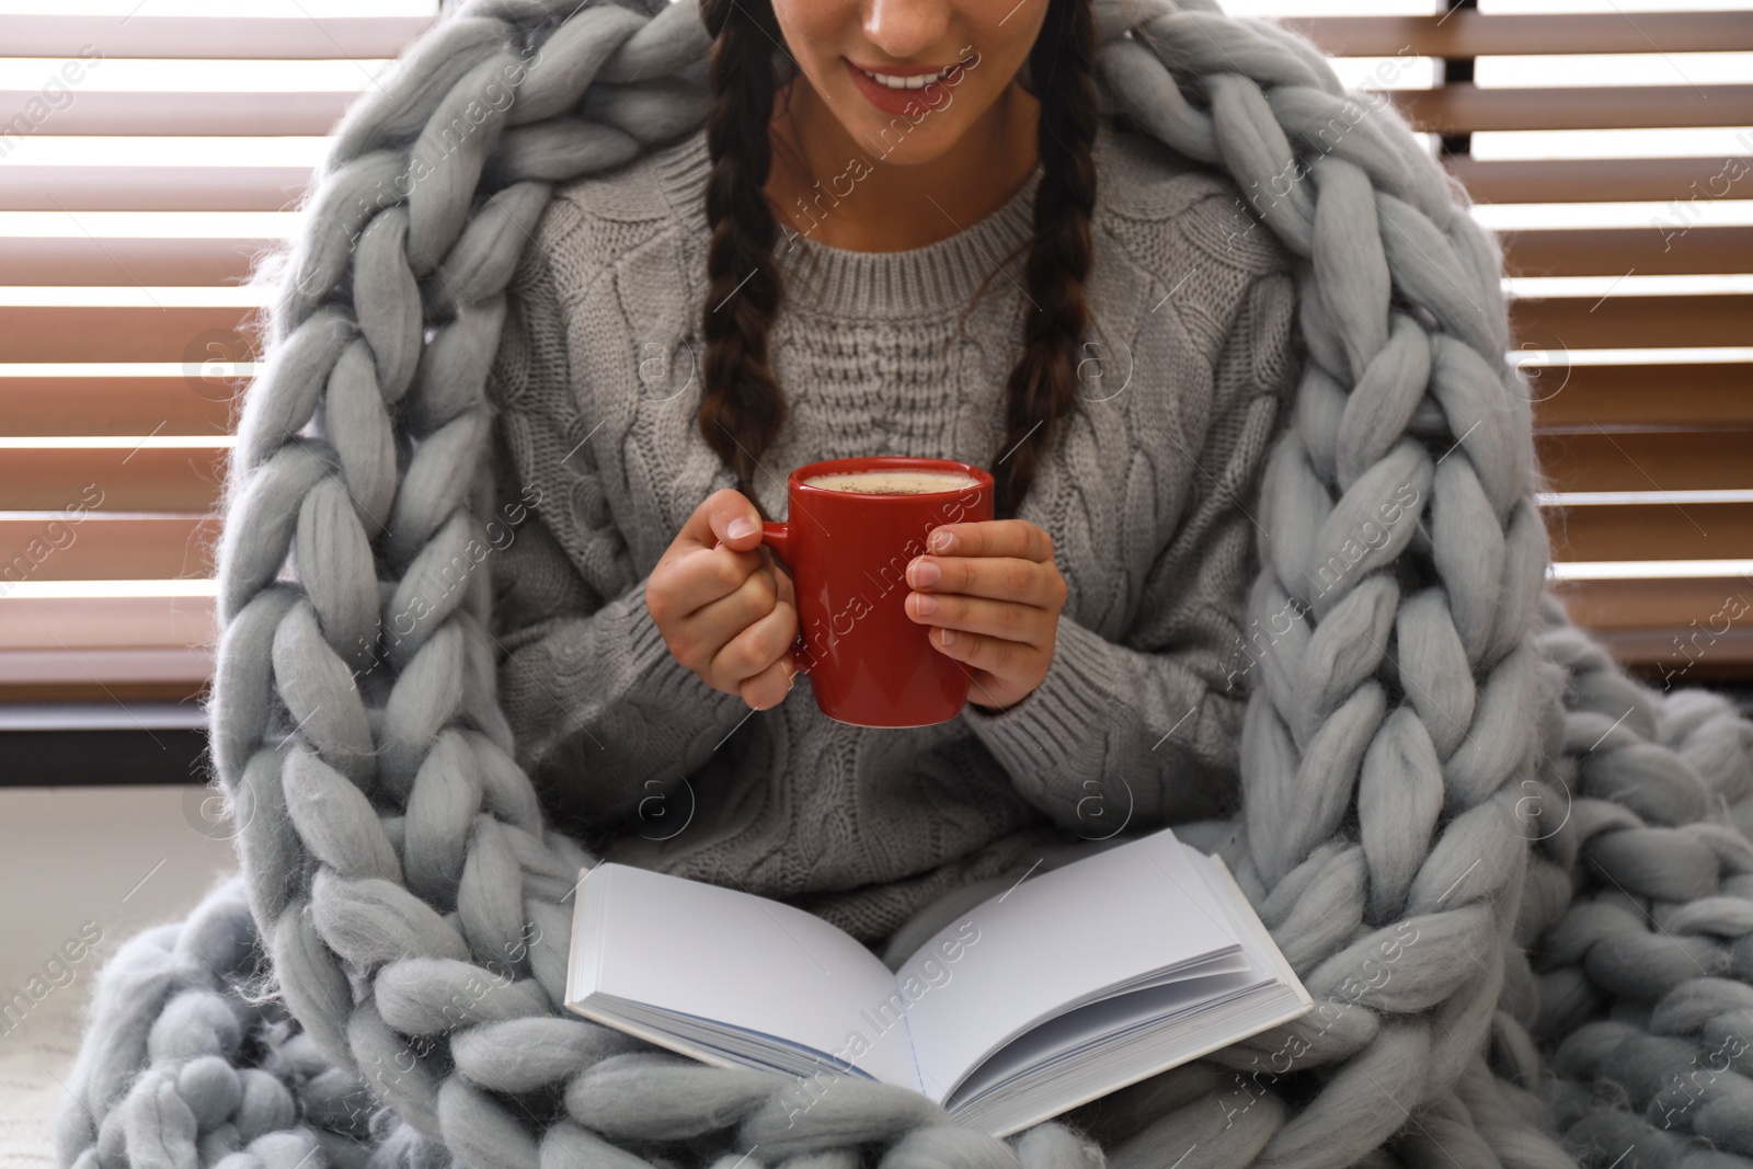
[[[493,634],[547,808],[607,859],[780,897],[866,943],[1048,841],[1232,808],[1250,512],[1301,365],[1292,256],[1227,179],[1104,119],[1082,400],[1020,508],[1069,587],[1047,680],[933,727],[833,722],[808,678],[754,713],[684,670],[645,606],[682,522],[733,482],[694,422],[708,165],[701,131],[559,189],[510,287],[498,503],[533,507],[493,554]],[[791,415],[761,457],[768,514],[812,459],[989,464],[1038,182],[913,251],[782,238]],[[859,195],[824,214],[882,214]]]

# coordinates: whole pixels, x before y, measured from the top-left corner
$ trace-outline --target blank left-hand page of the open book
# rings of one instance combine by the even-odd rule
[[[813,913],[614,862],[591,869],[578,897],[578,920],[594,920],[596,936],[573,938],[568,1003],[608,994],[917,1087],[905,1020],[875,1025],[876,1004],[894,995],[889,967]]]

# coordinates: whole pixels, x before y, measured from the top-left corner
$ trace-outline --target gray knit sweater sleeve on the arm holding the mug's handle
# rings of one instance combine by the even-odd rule
[[[500,703],[519,764],[564,825],[628,827],[652,783],[698,769],[749,706],[684,668],[652,620],[649,573],[596,473],[601,419],[580,412],[542,242],[508,289],[489,375],[500,515],[521,521],[493,557]]]

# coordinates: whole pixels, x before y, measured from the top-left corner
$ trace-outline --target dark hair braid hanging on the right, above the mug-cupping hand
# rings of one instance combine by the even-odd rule
[[[1052,0],[1029,51],[1029,88],[1041,100],[1036,133],[1041,184],[1034,193],[1034,242],[1024,266],[1034,303],[1024,315],[1022,356],[1004,387],[1004,438],[992,452],[997,517],[1017,514],[1052,442],[1054,422],[1076,407],[1096,207],[1094,54],[1096,19],[1089,2]]]

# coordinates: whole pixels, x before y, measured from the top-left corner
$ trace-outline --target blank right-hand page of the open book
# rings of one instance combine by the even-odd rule
[[[933,987],[931,964],[945,964],[941,945],[952,939],[966,952]],[[980,1060],[1029,1027],[1238,948],[1185,847],[1162,829],[975,906],[922,945],[894,981],[910,999],[924,1092],[943,1102]]]

